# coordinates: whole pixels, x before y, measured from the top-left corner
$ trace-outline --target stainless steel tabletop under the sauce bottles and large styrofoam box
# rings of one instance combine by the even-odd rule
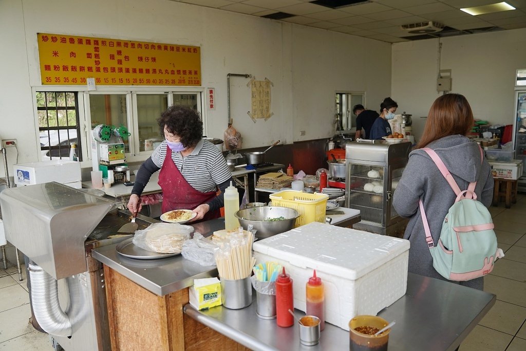
[[[253,295],[255,297],[255,294]],[[389,350],[454,350],[495,303],[495,295],[439,279],[409,273],[407,293],[378,315],[396,325],[389,334]],[[244,309],[222,306],[184,312],[198,322],[253,350],[347,350],[349,332],[325,324],[320,343],[299,343],[297,323],[281,328],[276,320],[256,316],[256,300]],[[304,313],[296,310],[297,315]]]

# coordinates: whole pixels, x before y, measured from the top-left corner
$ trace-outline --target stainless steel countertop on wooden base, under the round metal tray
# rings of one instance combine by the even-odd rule
[[[225,219],[217,218],[190,225],[197,232],[209,236],[215,230],[225,229]],[[194,284],[194,279],[217,277],[215,266],[201,266],[181,255],[160,259],[134,259],[119,255],[115,246],[96,248],[92,250],[92,256],[159,296],[189,287]]]

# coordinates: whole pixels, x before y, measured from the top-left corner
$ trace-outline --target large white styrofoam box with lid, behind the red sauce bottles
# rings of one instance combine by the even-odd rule
[[[305,311],[313,269],[325,285],[325,320],[349,330],[406,293],[409,241],[312,222],[254,243],[257,263],[277,262],[293,279],[294,307]]]

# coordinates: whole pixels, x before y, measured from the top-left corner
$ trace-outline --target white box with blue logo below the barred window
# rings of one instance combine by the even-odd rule
[[[44,162],[22,163],[13,166],[15,184],[31,185],[48,182],[81,182],[80,162],[54,159]]]

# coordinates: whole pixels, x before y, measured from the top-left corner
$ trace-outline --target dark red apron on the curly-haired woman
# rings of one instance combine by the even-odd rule
[[[171,153],[170,147],[166,145],[166,156],[163,167],[159,171],[158,184],[163,189],[163,204],[161,206],[163,213],[174,209],[194,209],[216,197],[215,191],[201,193],[188,184],[171,158]],[[221,213],[217,209],[208,211],[201,220],[219,217],[221,217]]]

